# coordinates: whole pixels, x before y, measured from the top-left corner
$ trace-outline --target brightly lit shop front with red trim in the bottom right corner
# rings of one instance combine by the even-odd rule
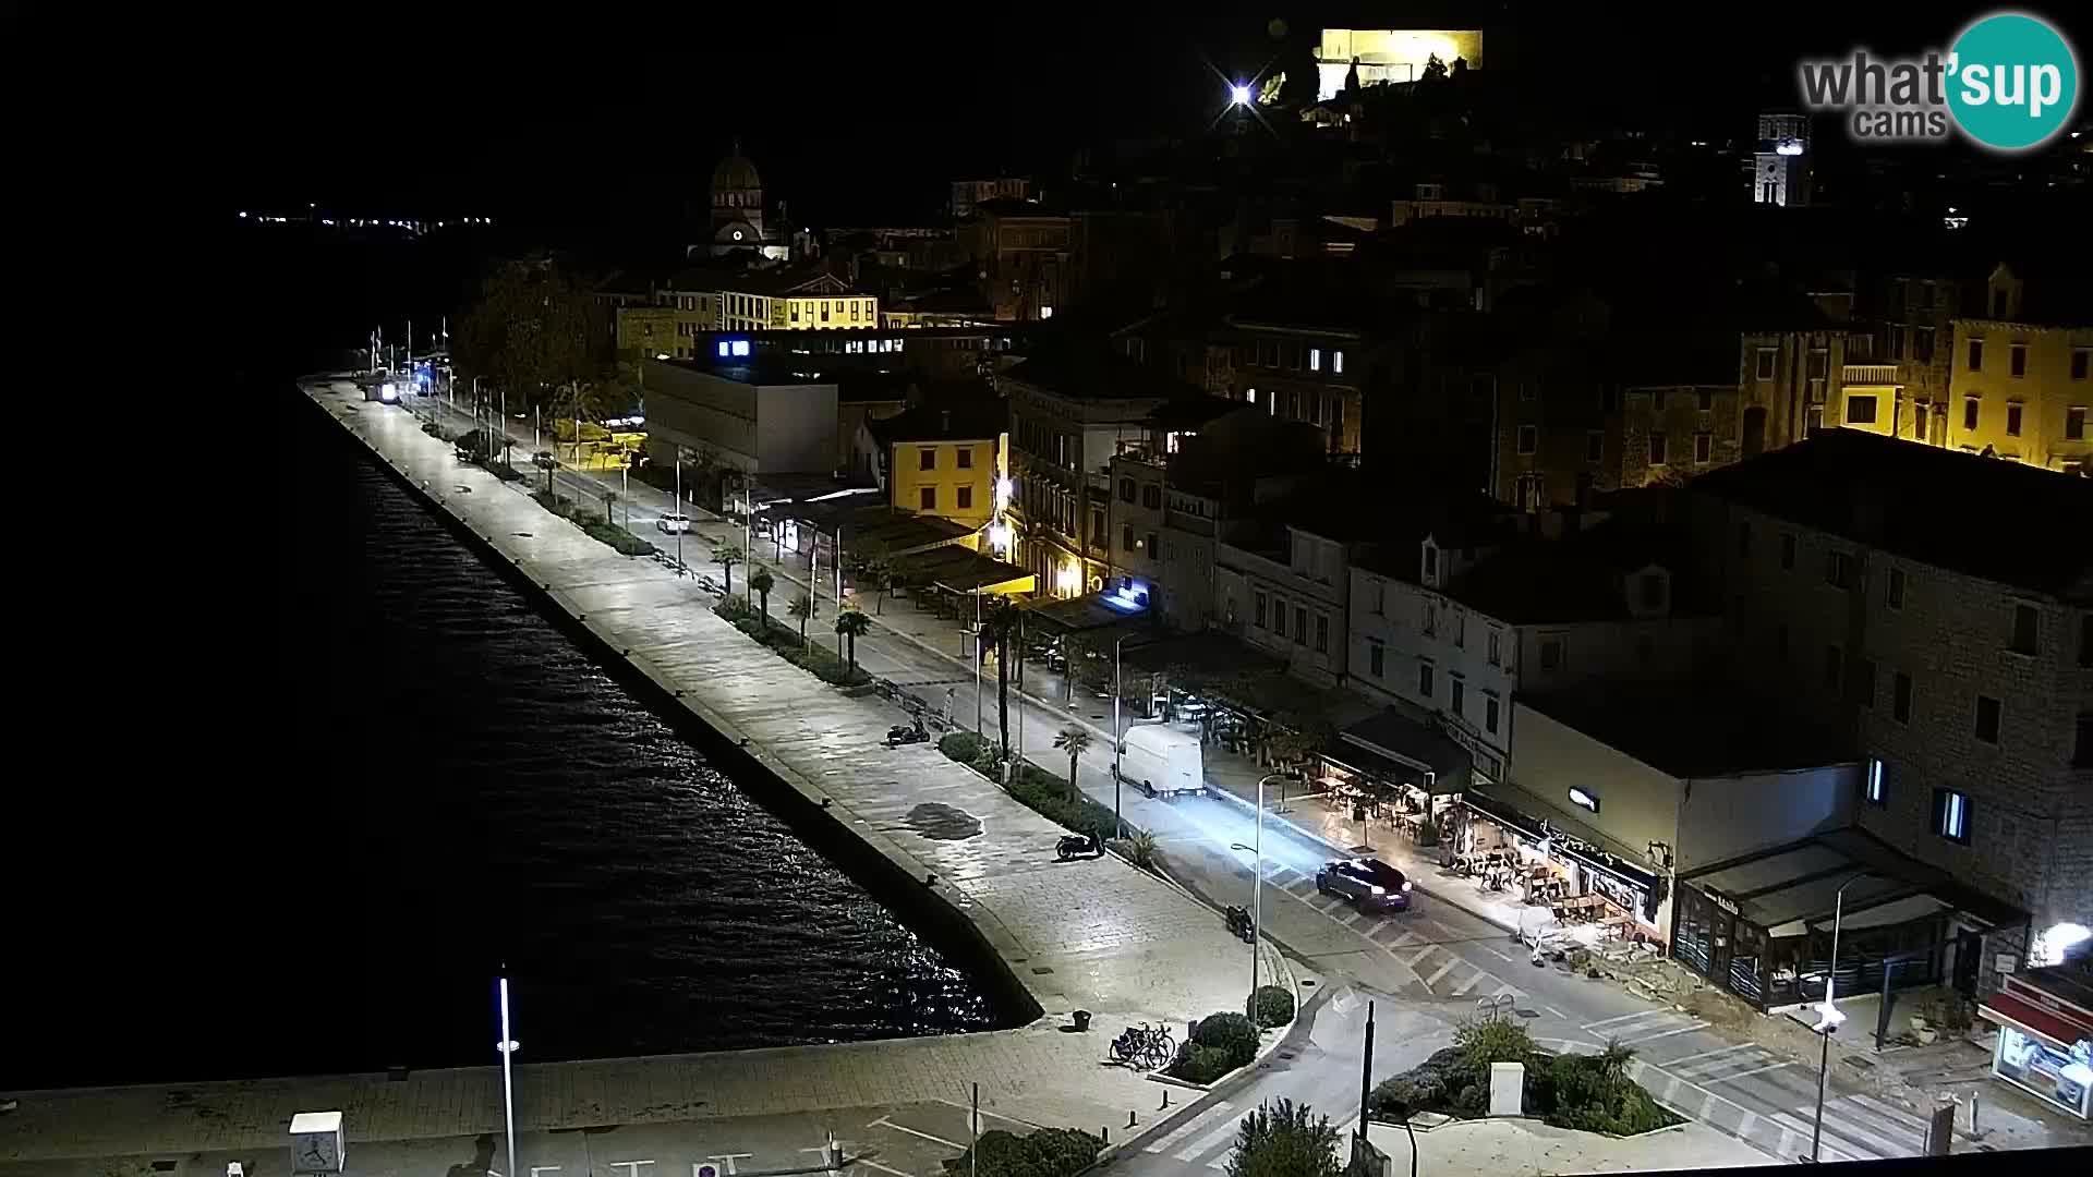
[[[2003,989],[1978,1005],[1978,1018],[1999,1026],[1995,1076],[2085,1120],[2093,1093],[2093,991],[2068,968],[2007,974]]]

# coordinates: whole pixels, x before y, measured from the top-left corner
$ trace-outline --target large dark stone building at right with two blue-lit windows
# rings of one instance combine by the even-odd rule
[[[2093,486],[1827,429],[1693,501],[1737,679],[1838,716],[1865,831],[2028,913],[1961,970],[2093,921]]]

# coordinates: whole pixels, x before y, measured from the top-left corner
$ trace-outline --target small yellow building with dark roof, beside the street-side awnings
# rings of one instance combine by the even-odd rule
[[[887,503],[919,515],[938,515],[973,528],[967,547],[996,519],[998,486],[1009,473],[1009,410],[984,390],[982,400],[950,406],[919,404],[896,417],[867,421],[860,448],[887,490]],[[1009,540],[986,547],[1009,559]]]

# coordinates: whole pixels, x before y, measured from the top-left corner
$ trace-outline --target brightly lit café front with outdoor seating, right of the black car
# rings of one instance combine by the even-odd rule
[[[1662,875],[1496,794],[1469,787],[1461,798],[1448,861],[1482,890],[1545,907],[1559,926],[1586,930],[1589,938],[1662,940]]]

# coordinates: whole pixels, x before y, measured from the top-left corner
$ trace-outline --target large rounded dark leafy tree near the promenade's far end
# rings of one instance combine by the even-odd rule
[[[519,408],[544,406],[546,392],[597,375],[588,291],[553,260],[496,268],[452,335],[456,371],[481,377],[492,396],[509,390]]]

